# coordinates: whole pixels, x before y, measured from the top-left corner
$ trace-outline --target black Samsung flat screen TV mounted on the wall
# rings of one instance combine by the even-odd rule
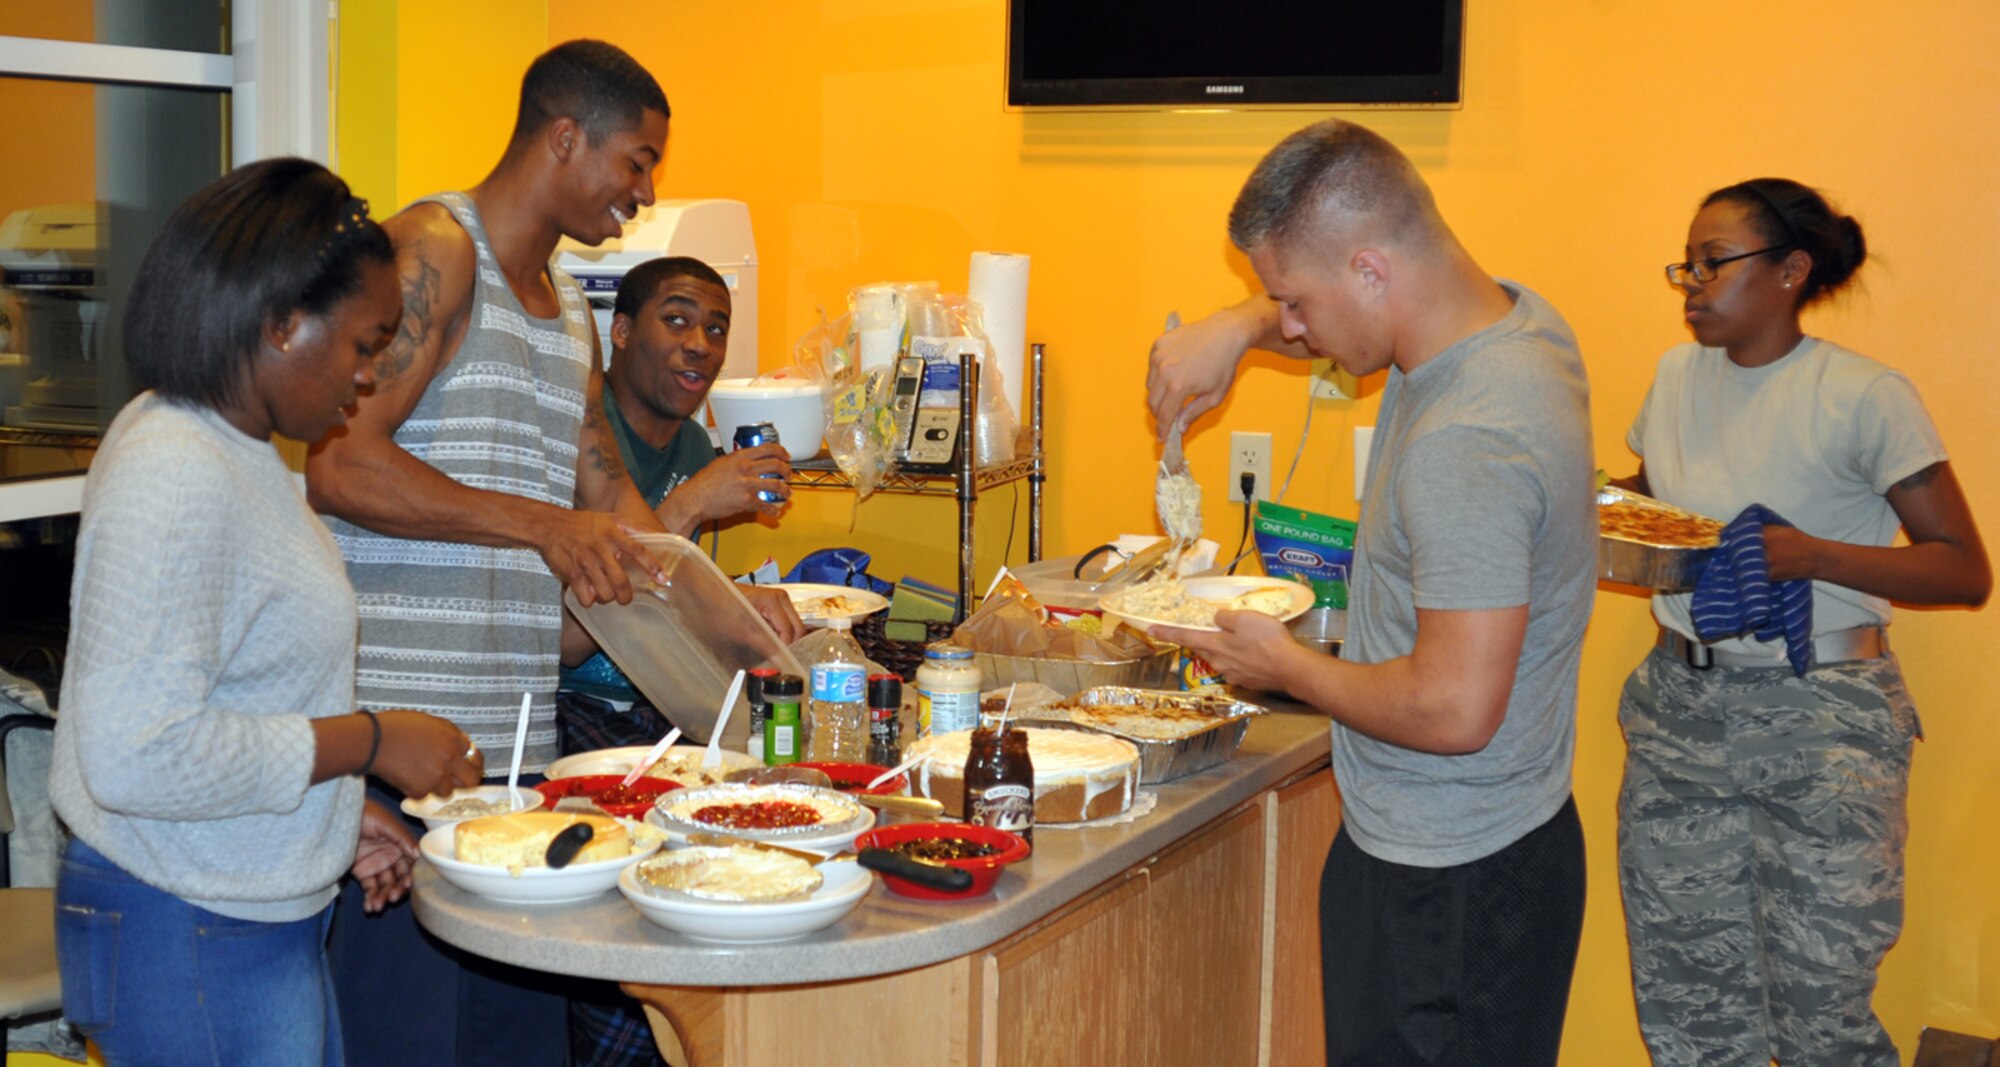
[[[1464,0],[1008,0],[1014,108],[1452,108]]]

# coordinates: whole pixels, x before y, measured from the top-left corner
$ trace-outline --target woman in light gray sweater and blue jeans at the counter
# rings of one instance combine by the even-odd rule
[[[400,316],[388,238],[308,160],[196,192],[140,264],[50,775],[62,1001],[106,1063],[342,1063],[336,881],[378,909],[416,859],[362,775],[480,781],[456,725],[354,711],[354,591],[270,442],[340,426]]]

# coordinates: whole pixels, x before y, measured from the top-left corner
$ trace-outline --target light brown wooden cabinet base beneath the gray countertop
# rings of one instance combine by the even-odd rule
[[[678,1067],[1318,1065],[1318,887],[1338,817],[1320,769],[968,957],[816,985],[626,989]]]

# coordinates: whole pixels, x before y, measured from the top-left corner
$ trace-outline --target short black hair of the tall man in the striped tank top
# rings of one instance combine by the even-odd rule
[[[570,40],[528,64],[528,74],[520,80],[514,140],[570,116],[584,128],[590,144],[604,144],[604,138],[620,130],[638,128],[648,110],[672,116],[660,82],[638,60],[616,44]]]

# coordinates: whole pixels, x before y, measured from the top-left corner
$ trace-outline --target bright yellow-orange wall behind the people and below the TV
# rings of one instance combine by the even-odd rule
[[[394,174],[404,200],[484,174],[528,56],[572,36],[636,54],[674,106],[664,196],[746,200],[758,228],[766,338],[786,362],[814,308],[850,286],[934,278],[964,286],[966,256],[1034,256],[1030,338],[1050,346],[1048,551],[1150,528],[1154,446],[1142,406],[1146,346],[1168,310],[1200,314],[1246,292],[1224,238],[1242,176],[1318,114],[1008,114],[1000,0],[664,2],[636,14],[576,0],[398,4],[348,0],[396,26],[396,80],[342,76],[342,104],[394,126],[340,122],[342,166]],[[1984,292],[2000,248],[1996,156],[2000,8],[1980,0],[1880,6],[1772,0],[1720,8],[1490,0],[1468,4],[1466,106],[1356,112],[1436,186],[1446,216],[1496,274],[1548,296],[1590,364],[1602,464],[1624,472],[1624,426],[1656,356],[1684,340],[1660,264],[1678,258],[1698,198],[1780,174],[1856,212],[1878,260],[1866,290],[1810,328],[1906,370],[1952,446],[1986,530],[2000,537],[2000,446],[1980,436],[2000,388],[1984,346],[2000,312]],[[472,36],[468,36],[472,34]],[[532,40],[530,40],[532,38]],[[344,74],[368,62],[342,36]],[[450,54],[450,64],[436,56]],[[1282,472],[1306,410],[1304,378],[1254,358],[1236,396],[1194,426],[1188,458],[1222,502],[1228,430],[1268,430]],[[1376,384],[1378,386],[1378,384]],[[1374,398],[1320,404],[1288,498],[1352,514],[1350,430]],[[1006,537],[1008,494],[980,524],[982,575]],[[848,522],[854,520],[852,532]],[[1026,526],[1012,559],[1024,555]],[[802,494],[774,535],[724,535],[724,563],[854,543],[878,573],[952,573],[946,502]],[[1920,1025],[2000,1033],[2000,811],[1992,613],[1910,611],[1896,643],[1930,733],[1912,779],[1910,913],[1882,969],[1878,1009],[1904,1051]],[[1644,601],[1606,591],[1586,645],[1576,793],[1592,899],[1566,1065],[1642,1063],[1620,925],[1612,803],[1618,683],[1650,637]]]

